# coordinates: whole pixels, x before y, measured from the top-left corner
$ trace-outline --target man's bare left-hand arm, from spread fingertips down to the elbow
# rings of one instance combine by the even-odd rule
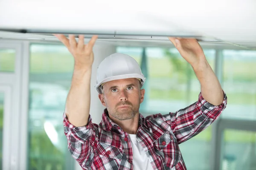
[[[87,125],[90,112],[90,79],[93,64],[93,45],[97,36],[84,45],[84,36],[79,35],[76,42],[75,36],[67,39],[62,34],[54,34],[70,51],[75,60],[71,88],[67,95],[65,113],[69,122],[81,127]]]

